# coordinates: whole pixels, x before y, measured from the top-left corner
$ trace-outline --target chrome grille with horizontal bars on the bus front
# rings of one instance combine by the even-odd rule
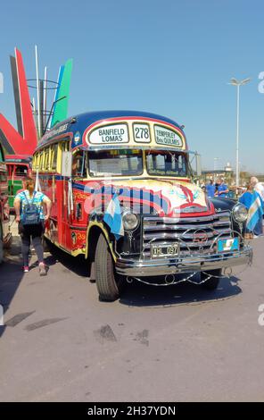
[[[199,240],[199,235],[206,237]],[[230,238],[231,217],[229,212],[219,212],[200,217],[152,217],[143,221],[142,256],[151,256],[151,244],[173,243],[179,241],[180,256],[210,254],[214,252],[216,239]]]

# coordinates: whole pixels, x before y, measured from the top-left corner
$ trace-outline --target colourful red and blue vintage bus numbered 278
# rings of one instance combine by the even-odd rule
[[[41,139],[33,172],[53,202],[45,238],[83,255],[102,300],[126,281],[174,284],[194,273],[213,290],[249,264],[244,206],[192,182],[183,127],[153,113],[83,113]]]

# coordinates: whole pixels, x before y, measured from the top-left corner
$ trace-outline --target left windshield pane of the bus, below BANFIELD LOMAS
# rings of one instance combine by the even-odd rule
[[[89,151],[90,176],[141,175],[142,150],[120,149]]]

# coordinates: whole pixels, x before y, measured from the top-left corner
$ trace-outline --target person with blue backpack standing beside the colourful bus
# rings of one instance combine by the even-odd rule
[[[29,249],[32,239],[37,252],[39,274],[45,275],[42,235],[45,231],[45,220],[50,216],[52,203],[45,194],[35,191],[35,181],[32,178],[25,178],[23,188],[14,199],[15,220],[21,235],[23,272],[29,273]]]

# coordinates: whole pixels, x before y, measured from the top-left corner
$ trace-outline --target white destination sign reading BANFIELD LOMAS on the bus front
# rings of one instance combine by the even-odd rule
[[[128,143],[127,124],[104,125],[91,132],[89,143],[93,145]]]

